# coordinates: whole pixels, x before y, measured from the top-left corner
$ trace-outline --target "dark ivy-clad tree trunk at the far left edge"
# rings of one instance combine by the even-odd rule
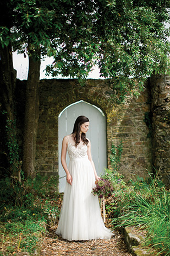
[[[13,68],[12,46],[2,47],[0,44],[0,108],[6,111],[1,120],[1,167],[10,171],[10,175],[18,177],[18,150],[15,147],[17,143],[17,127],[15,125],[15,103],[14,90],[16,76]],[[6,135],[6,136],[4,136]]]

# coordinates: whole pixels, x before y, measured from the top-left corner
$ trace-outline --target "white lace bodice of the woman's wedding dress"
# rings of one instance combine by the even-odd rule
[[[87,145],[75,147],[72,143],[68,142],[67,151],[70,159],[84,158],[87,156]]]

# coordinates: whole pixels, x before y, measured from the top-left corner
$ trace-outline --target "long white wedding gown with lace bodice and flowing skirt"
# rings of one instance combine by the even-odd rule
[[[69,136],[68,140],[69,140]],[[91,191],[95,174],[87,157],[87,146],[75,147],[68,141],[69,172],[72,185],[66,184],[56,234],[69,241],[109,239],[113,235],[102,220],[98,197]]]

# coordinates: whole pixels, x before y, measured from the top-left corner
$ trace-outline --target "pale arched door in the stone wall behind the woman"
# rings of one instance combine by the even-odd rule
[[[100,175],[103,168],[107,167],[107,150],[106,150],[106,117],[102,110],[97,106],[80,100],[73,103],[58,116],[58,159],[59,159],[59,192],[62,193],[65,188],[65,172],[61,164],[61,147],[65,135],[73,131],[75,119],[79,115],[85,115],[90,120],[87,138],[91,141],[91,154],[95,163],[97,174]],[[67,163],[69,157],[67,155]]]

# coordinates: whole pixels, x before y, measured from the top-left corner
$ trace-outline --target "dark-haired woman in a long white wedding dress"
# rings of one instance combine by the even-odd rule
[[[98,197],[91,193],[95,180],[100,177],[91,158],[90,140],[86,138],[88,130],[89,119],[79,116],[72,134],[65,136],[62,142],[61,162],[67,174],[67,184],[56,234],[69,241],[109,239],[113,236],[103,223]]]

